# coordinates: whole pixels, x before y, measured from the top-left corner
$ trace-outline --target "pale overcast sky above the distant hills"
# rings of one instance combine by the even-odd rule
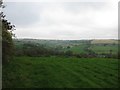
[[[118,38],[118,0],[6,0],[5,5],[17,38]]]

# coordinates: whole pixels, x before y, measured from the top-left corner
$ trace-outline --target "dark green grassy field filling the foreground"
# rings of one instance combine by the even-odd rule
[[[15,57],[3,66],[3,88],[118,87],[118,60],[108,58]]]

